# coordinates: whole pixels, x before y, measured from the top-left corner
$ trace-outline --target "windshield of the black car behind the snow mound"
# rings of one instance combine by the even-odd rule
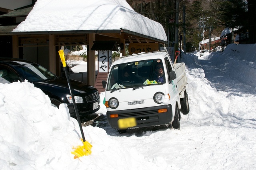
[[[44,81],[56,77],[56,75],[54,75],[52,72],[36,63],[16,65],[15,68],[21,75],[25,77],[25,79],[30,82]]]

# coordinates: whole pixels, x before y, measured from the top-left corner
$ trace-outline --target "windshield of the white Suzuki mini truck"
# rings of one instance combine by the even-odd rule
[[[107,90],[133,88],[165,83],[164,65],[161,59],[122,63],[110,70]]]

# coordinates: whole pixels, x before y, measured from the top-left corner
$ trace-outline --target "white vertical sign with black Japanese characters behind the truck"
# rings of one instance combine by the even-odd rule
[[[108,73],[108,69],[112,64],[112,51],[98,51],[98,73]]]

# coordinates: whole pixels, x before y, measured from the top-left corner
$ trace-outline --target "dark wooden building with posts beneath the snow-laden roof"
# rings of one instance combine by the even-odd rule
[[[41,1],[41,0],[37,0]],[[34,1],[32,1],[34,2]],[[37,3],[36,2],[36,3]],[[60,57],[58,50],[63,45],[86,45],[88,49],[88,70],[87,83],[96,85],[95,73],[95,51],[97,50],[118,50],[125,54],[125,44],[131,43],[157,43],[158,46],[166,43],[167,38],[157,38],[150,34],[134,32],[132,30],[113,29],[113,30],[35,30],[13,32],[18,25],[22,25],[28,14],[33,14],[32,3],[30,6],[19,8],[0,15],[0,40],[4,53],[1,57],[23,58],[34,61],[56,75],[61,75]],[[34,12],[36,14],[36,12]],[[139,14],[140,15],[140,14]],[[111,18],[115,20],[118,16]],[[141,16],[140,16],[141,17]],[[142,16],[143,17],[143,16]],[[145,17],[146,18],[146,17]],[[119,18],[122,20],[122,18]],[[147,18],[148,19],[148,18]],[[27,19],[26,19],[27,20]],[[40,20],[40,16],[38,16]],[[149,19],[148,19],[149,20]],[[63,21],[68,22],[68,21]],[[134,22],[142,22],[140,20]],[[154,22],[154,21],[149,21]],[[20,24],[21,23],[21,24]],[[31,22],[33,24],[33,22]],[[84,23],[83,23],[84,24]],[[155,23],[154,23],[155,24]],[[159,23],[158,23],[159,24]],[[161,30],[148,28],[150,32]],[[163,30],[163,29],[162,29]],[[164,33],[165,34],[165,33]],[[165,35],[166,36],[166,35]],[[92,48],[93,47],[93,48]],[[96,87],[97,88],[97,87]]]

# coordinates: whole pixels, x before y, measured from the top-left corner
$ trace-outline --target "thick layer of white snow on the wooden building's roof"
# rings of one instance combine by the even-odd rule
[[[126,0],[37,0],[13,32],[120,29],[167,41],[163,26],[135,12]]]

